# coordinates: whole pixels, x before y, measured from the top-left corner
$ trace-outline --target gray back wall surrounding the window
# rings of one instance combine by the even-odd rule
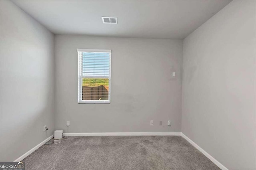
[[[110,104],[78,104],[77,48],[112,50]],[[58,35],[55,57],[56,129],[70,121],[68,132],[181,131],[182,40]]]

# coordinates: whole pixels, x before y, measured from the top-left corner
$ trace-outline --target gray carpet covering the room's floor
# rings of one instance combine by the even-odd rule
[[[82,136],[43,145],[26,170],[219,170],[181,136]]]

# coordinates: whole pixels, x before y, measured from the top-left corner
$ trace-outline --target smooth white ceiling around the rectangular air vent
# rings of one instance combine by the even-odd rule
[[[12,0],[54,34],[183,39],[231,0]],[[118,18],[103,24],[102,16]]]

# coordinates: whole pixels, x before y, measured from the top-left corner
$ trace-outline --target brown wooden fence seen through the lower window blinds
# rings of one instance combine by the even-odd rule
[[[108,86],[83,86],[82,91],[83,100],[108,100]]]

